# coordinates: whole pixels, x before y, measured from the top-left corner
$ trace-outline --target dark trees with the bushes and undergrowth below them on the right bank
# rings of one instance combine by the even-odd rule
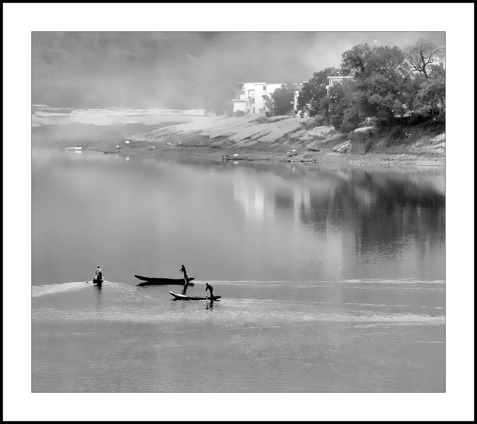
[[[355,46],[342,54],[339,70],[328,67],[315,72],[300,91],[297,112],[314,120],[300,122],[302,127],[292,120],[288,133],[277,137],[273,132],[270,137],[276,143],[312,147],[307,142],[314,134],[305,129],[324,126],[330,127],[327,136],[321,134],[316,140],[322,147],[347,141],[347,150],[361,154],[422,152],[417,147],[432,145],[431,140],[445,132],[445,68],[438,59],[436,46],[424,39],[404,52],[397,46]],[[328,76],[337,74],[347,78],[327,89]],[[292,85],[284,84],[270,93],[266,116],[289,113],[293,91]],[[256,122],[272,121],[258,118]],[[255,130],[251,141],[263,135]],[[242,141],[237,135],[232,139]],[[443,153],[444,146],[431,151]]]

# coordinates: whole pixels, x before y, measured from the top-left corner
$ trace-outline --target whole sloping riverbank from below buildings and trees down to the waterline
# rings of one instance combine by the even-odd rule
[[[314,118],[204,116],[127,139],[106,141],[92,150],[128,156],[186,156],[224,161],[346,160],[362,164],[436,166],[445,165],[445,132],[439,127],[414,125],[391,129],[363,126],[343,134],[331,126],[320,125]]]

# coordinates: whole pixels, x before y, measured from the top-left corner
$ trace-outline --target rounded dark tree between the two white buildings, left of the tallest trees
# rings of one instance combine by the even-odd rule
[[[336,74],[336,68],[325,68],[322,71],[314,72],[313,78],[303,84],[303,88],[298,94],[297,110],[300,116],[307,113],[314,117],[323,113],[328,114],[327,93],[325,85],[329,75]]]

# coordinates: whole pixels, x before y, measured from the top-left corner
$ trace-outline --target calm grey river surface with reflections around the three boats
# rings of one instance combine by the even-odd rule
[[[445,391],[444,177],[34,148],[32,391]]]

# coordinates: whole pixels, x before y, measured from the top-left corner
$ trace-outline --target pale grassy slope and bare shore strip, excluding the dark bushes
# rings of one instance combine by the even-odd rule
[[[395,150],[393,154],[359,154],[350,152],[352,149],[338,153],[337,147],[347,143],[344,137],[332,127],[314,125],[310,118],[210,116],[128,139],[100,143],[92,150],[128,156],[183,156],[217,160],[226,155],[239,155],[250,159],[269,158],[270,162],[313,158],[316,161],[312,163],[347,161],[390,166],[445,165],[445,134],[434,139],[417,138],[407,148]],[[287,157],[287,152],[293,150],[297,151],[297,155]]]

